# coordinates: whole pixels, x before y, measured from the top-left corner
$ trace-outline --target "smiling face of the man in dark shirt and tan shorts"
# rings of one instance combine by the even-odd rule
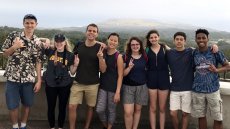
[[[86,31],[87,40],[94,41],[96,40],[97,36],[98,36],[97,27],[88,26],[87,31]]]

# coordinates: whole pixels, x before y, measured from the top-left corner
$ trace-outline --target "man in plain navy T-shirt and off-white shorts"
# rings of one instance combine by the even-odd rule
[[[193,84],[192,48],[185,48],[186,34],[174,34],[175,49],[167,51],[171,70],[170,115],[174,129],[179,129],[178,111],[182,111],[181,128],[187,129],[191,113],[191,90]]]

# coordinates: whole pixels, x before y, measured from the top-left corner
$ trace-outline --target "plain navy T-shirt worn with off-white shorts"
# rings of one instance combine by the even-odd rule
[[[192,49],[186,48],[183,51],[170,49],[167,51],[167,59],[171,70],[172,91],[191,91],[193,84],[193,59]]]

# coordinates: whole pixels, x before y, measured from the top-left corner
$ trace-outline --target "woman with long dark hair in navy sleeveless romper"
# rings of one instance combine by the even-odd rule
[[[166,102],[169,92],[169,69],[166,59],[167,46],[159,43],[157,30],[150,30],[146,35],[147,86],[149,88],[149,114],[151,129],[156,128],[156,109],[159,104],[160,129],[165,128]],[[158,102],[158,104],[157,104]]]

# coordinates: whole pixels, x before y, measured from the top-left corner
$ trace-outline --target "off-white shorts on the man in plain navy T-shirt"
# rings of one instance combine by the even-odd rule
[[[191,113],[191,91],[171,91],[170,110]]]

